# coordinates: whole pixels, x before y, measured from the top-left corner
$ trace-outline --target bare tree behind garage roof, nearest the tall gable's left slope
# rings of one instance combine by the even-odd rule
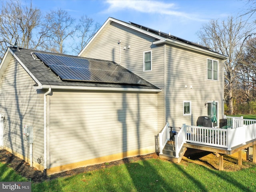
[[[74,52],[79,54],[86,44],[92,39],[94,34],[99,30],[100,24],[89,18],[88,16],[81,16],[79,24],[77,25],[78,44],[74,48]]]

